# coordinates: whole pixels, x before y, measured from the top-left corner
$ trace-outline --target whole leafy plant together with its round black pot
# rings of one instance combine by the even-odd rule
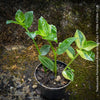
[[[52,45],[52,41],[58,43],[57,29],[54,25],[50,25],[47,21],[40,17],[38,20],[38,30],[30,32],[28,28],[33,22],[33,11],[25,14],[18,10],[15,14],[15,20],[7,20],[6,24],[15,23],[21,25],[26,30],[26,34],[33,40],[39,53],[38,58],[41,62],[35,69],[35,78],[40,86],[41,95],[47,99],[56,100],[63,98],[66,87],[74,80],[74,70],[70,68],[71,63],[80,55],[83,59],[94,61],[95,54],[91,51],[98,46],[94,41],[87,41],[85,35],[76,30],[73,37],[67,38],[60,42],[56,49]],[[43,45],[40,49],[34,38],[40,35],[42,39],[47,40],[49,45]],[[71,44],[75,42],[77,46],[77,54]],[[54,54],[54,60],[46,57],[50,48]],[[66,65],[61,61],[57,61],[57,55],[66,52],[71,61]]]

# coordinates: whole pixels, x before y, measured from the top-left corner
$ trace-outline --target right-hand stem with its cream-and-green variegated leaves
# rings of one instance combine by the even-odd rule
[[[62,74],[65,78],[72,80],[74,79],[74,70],[71,69],[69,66],[70,64],[80,55],[83,59],[94,61],[95,60],[95,54],[91,50],[98,46],[98,44],[94,41],[87,41],[85,35],[79,31],[76,30],[74,37],[77,39],[75,40],[76,46],[78,49],[76,49],[77,54],[75,55],[75,50],[70,46],[66,53],[71,58],[71,61],[68,63],[68,65],[63,70]],[[66,70],[67,69],[67,70]]]

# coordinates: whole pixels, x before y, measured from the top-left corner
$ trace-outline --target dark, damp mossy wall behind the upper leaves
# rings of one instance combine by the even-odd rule
[[[87,37],[94,37],[96,22],[96,3],[66,0],[1,0],[0,1],[0,43],[29,44],[32,41],[24,34],[25,30],[18,25],[6,25],[7,19],[14,19],[18,9],[23,12],[34,11],[34,22],[31,31],[37,30],[38,19],[43,16],[49,24],[54,24],[58,31],[58,40],[73,36],[76,29]],[[6,30],[5,30],[6,29]],[[91,35],[91,36],[90,36]],[[61,36],[59,38],[59,36]],[[32,43],[31,43],[32,44]]]

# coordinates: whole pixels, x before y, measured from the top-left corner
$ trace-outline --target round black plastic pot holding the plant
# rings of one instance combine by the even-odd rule
[[[63,64],[64,67],[66,66],[65,63],[63,62],[60,62],[60,61],[57,61],[57,64]],[[46,98],[47,100],[61,100],[62,98],[65,97],[66,94],[66,87],[70,84],[71,81],[68,82],[68,84],[62,86],[62,87],[59,87],[59,88],[50,88],[50,87],[47,87],[45,85],[43,85],[42,83],[40,83],[38,80],[37,80],[37,77],[36,77],[36,74],[37,74],[37,68],[40,67],[42,64],[39,64],[36,69],[35,69],[35,73],[34,73],[34,76],[35,76],[35,79],[36,81],[38,82],[38,86],[39,86],[39,89],[40,89],[40,92],[41,92],[41,96],[43,98]]]

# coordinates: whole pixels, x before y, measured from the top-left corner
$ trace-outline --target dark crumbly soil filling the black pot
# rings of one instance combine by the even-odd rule
[[[37,68],[36,77],[37,80],[47,87],[58,88],[68,84],[69,80],[66,80],[62,76],[62,71],[66,65],[63,63],[57,63],[57,76],[48,70],[46,73],[42,67],[42,64]],[[57,77],[60,79],[57,80]]]

